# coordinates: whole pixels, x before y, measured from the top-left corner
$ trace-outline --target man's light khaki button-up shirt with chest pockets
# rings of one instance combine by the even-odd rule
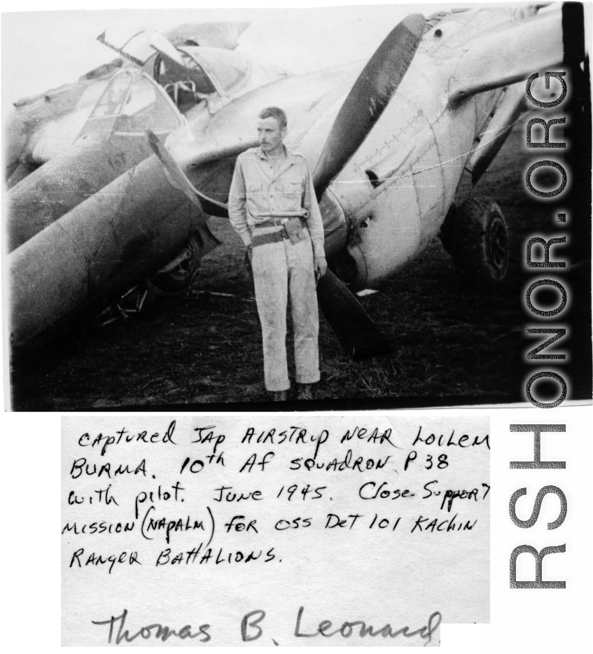
[[[230,223],[245,245],[251,228],[270,218],[301,216],[307,223],[314,256],[323,251],[323,221],[307,160],[284,148],[286,159],[274,170],[261,148],[239,155],[228,198]]]

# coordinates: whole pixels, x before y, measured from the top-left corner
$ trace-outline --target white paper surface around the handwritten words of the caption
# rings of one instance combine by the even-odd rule
[[[106,448],[104,455],[98,447],[81,447],[78,438],[89,433],[92,438],[116,433],[123,429],[132,435],[141,431],[163,433],[172,418],[152,416],[107,417],[64,417],[63,460],[62,460],[62,525],[70,527],[104,520],[106,522],[134,522],[134,498],[141,492],[157,492],[172,488],[175,482],[183,487],[178,492],[178,501],[150,501],[141,496],[138,503],[139,519],[134,530],[127,534],[74,534],[65,531],[62,536],[62,624],[64,644],[101,644],[106,641],[108,627],[93,627],[90,620],[109,620],[111,615],[120,615],[125,607],[130,611],[126,625],[130,634],[136,633],[142,625],[161,622],[181,628],[191,622],[197,632],[198,624],[211,625],[211,644],[242,644],[239,624],[243,615],[256,609],[265,611],[262,623],[264,633],[258,645],[270,645],[272,638],[281,645],[345,646],[359,645],[358,638],[342,639],[334,636],[324,639],[295,641],[296,615],[299,606],[305,607],[301,622],[301,633],[315,633],[322,620],[331,620],[339,628],[344,621],[364,620],[375,626],[375,631],[391,624],[394,631],[405,625],[410,631],[427,624],[428,616],[435,611],[442,615],[443,622],[488,622],[489,620],[489,450],[487,417],[442,417],[430,419],[425,416],[408,420],[398,415],[342,417],[293,415],[280,418],[274,415],[257,417],[207,417],[189,419],[179,417],[174,427],[174,443],[120,443]],[[196,426],[216,425],[212,431],[225,434],[224,442],[217,452],[224,452],[224,466],[209,463],[207,456],[213,451],[209,443],[192,443],[197,435]],[[252,426],[255,437],[251,443],[242,443],[246,430]],[[384,462],[381,468],[334,470],[304,467],[295,470],[291,463],[295,459],[311,459],[316,443],[295,443],[278,434],[292,432],[291,426],[307,429],[309,434],[319,434],[326,429],[326,443],[319,445],[316,466],[330,464],[333,459],[344,460],[351,450],[352,461],[363,457]],[[389,443],[352,438],[344,443],[340,440],[356,427],[365,428],[370,435],[374,428],[379,434],[387,433]],[[445,445],[422,443],[417,440],[435,434],[442,436]],[[256,443],[260,433],[276,431],[275,443]],[[458,443],[464,434],[464,447],[450,445],[447,439]],[[295,436],[296,438],[296,436]],[[471,445],[477,439],[481,445]],[[429,439],[435,440],[435,438]],[[414,445],[414,442],[416,444]],[[85,441],[88,442],[88,441]],[[391,445],[391,444],[392,445]],[[417,453],[405,470],[410,452]],[[265,471],[255,466],[251,472],[239,472],[245,462],[255,453],[258,460],[267,452],[273,452],[265,465]],[[445,455],[445,459],[442,456]],[[73,462],[84,457],[90,469],[99,468],[107,461],[112,471],[118,464],[134,468],[141,459],[146,459],[146,476],[125,475],[106,478],[102,475],[86,475],[81,468],[73,471]],[[181,464],[190,460],[205,461],[198,473],[190,473],[186,467],[180,472]],[[386,457],[389,457],[387,459]],[[430,457],[430,458],[429,458]],[[439,457],[439,458],[438,458]],[[439,464],[439,461],[442,463]],[[441,468],[438,468],[438,465]],[[428,468],[428,469],[426,469]],[[153,478],[153,475],[155,478]],[[431,483],[431,495],[425,491]],[[361,499],[359,488],[368,482],[377,487],[386,482],[385,488],[408,489],[413,496],[398,499]],[[483,487],[482,484],[486,484]],[[117,498],[118,506],[97,503],[98,488],[111,484],[111,494]],[[218,502],[214,489],[232,486],[235,492],[259,490],[258,501],[244,500],[239,503]],[[325,487],[320,491],[321,499],[313,499],[309,493],[302,499],[295,492],[288,500],[288,487],[298,485],[299,489],[310,485],[312,489]],[[284,487],[284,491],[281,489]],[[370,487],[365,487],[365,496]],[[454,499],[450,510],[440,508],[447,489],[478,489],[477,499]],[[67,504],[67,495],[74,492],[82,501],[74,506]],[[439,493],[437,496],[436,493]],[[95,501],[88,503],[88,497]],[[146,500],[146,501],[145,501]],[[183,500],[183,503],[182,503]],[[162,531],[145,531],[153,538],[146,541],[141,537],[142,516],[149,507],[149,517],[159,520],[204,520],[204,531],[172,531],[170,543],[165,542]],[[199,561],[206,552],[211,535],[211,521],[207,508],[214,514],[216,529],[210,547],[213,559],[207,564],[192,562],[168,564],[155,567],[155,561],[162,550],[169,548],[171,558],[180,552],[187,552],[203,543],[197,556]],[[346,520],[346,527],[326,528],[329,514]],[[255,531],[225,529],[225,523],[233,516],[244,516],[245,524],[256,520]],[[358,515],[352,528],[349,515]],[[376,520],[373,520],[377,516]],[[422,516],[421,528],[414,527]],[[309,517],[309,527],[277,531],[278,520],[294,520]],[[395,521],[400,518],[393,531]],[[379,522],[388,520],[389,526],[379,528]],[[438,520],[443,523],[442,531],[427,529]],[[445,531],[445,521],[462,526],[461,531]],[[473,524],[473,529],[463,530],[463,525]],[[335,518],[329,524],[335,525]],[[373,524],[374,523],[374,524]],[[387,523],[383,523],[387,524]],[[412,529],[414,530],[412,533]],[[84,554],[73,559],[73,552],[84,548]],[[223,563],[215,564],[217,552],[223,550]],[[274,548],[274,560],[264,563],[265,552]],[[104,566],[86,566],[91,552],[116,554],[122,550],[137,550],[142,566],[123,563],[114,566],[111,574]],[[240,550],[244,555],[250,551],[263,555],[257,562],[228,564],[226,555]],[[72,565],[74,562],[74,565]],[[80,562],[82,567],[79,567]],[[155,588],[158,591],[155,592]],[[180,600],[180,598],[183,598]],[[183,624],[179,624],[179,622]],[[255,630],[249,632],[255,634]],[[320,642],[321,641],[321,642]],[[396,641],[381,637],[369,642],[373,645],[418,646],[423,641],[418,636]],[[366,644],[367,641],[363,641]],[[197,641],[195,641],[197,643]],[[192,644],[195,644],[192,643]],[[438,637],[431,644],[438,643]],[[137,643],[136,643],[137,644]],[[174,643],[176,644],[176,643]]]

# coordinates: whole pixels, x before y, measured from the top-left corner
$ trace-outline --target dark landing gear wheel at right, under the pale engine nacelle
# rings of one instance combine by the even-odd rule
[[[509,236],[496,202],[469,198],[452,207],[440,229],[442,246],[468,281],[493,284],[508,269]]]

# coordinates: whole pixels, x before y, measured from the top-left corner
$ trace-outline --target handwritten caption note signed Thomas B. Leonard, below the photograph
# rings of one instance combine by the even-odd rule
[[[489,489],[487,417],[64,417],[62,643],[438,646]]]

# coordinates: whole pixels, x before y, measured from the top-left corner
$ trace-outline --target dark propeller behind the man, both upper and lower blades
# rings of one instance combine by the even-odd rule
[[[391,30],[354,83],[313,172],[318,199],[358,150],[403,79],[424,34],[424,16],[411,14]],[[392,348],[349,288],[328,270],[317,299],[342,347],[354,359],[384,356]]]

